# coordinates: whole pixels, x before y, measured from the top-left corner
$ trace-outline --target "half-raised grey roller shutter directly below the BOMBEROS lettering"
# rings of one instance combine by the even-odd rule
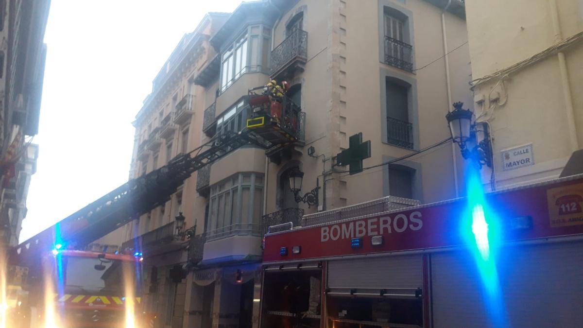
[[[329,261],[329,288],[422,288],[420,255]]]

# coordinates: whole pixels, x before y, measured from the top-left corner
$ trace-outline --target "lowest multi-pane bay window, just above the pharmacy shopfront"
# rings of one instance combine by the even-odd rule
[[[261,232],[263,175],[239,173],[210,188],[209,238]]]

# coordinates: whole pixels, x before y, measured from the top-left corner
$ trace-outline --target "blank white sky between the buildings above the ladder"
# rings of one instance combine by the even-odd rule
[[[127,181],[131,122],[184,33],[240,0],[52,0],[37,172],[20,242]]]

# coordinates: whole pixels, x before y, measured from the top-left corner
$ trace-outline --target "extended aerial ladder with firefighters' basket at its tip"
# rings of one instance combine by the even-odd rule
[[[57,242],[83,249],[165,204],[192,173],[241,146],[254,144],[273,153],[298,141],[300,107],[285,96],[285,90],[274,97],[269,86],[250,89],[247,102],[251,113],[242,131],[223,130],[194,151],[179,154],[167,165],[129,180],[12,249],[10,263],[34,267],[37,254],[50,252]]]

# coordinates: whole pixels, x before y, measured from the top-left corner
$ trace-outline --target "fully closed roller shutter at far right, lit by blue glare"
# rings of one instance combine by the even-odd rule
[[[507,247],[497,267],[507,327],[583,325],[583,243]],[[468,253],[431,256],[434,327],[498,326]]]

